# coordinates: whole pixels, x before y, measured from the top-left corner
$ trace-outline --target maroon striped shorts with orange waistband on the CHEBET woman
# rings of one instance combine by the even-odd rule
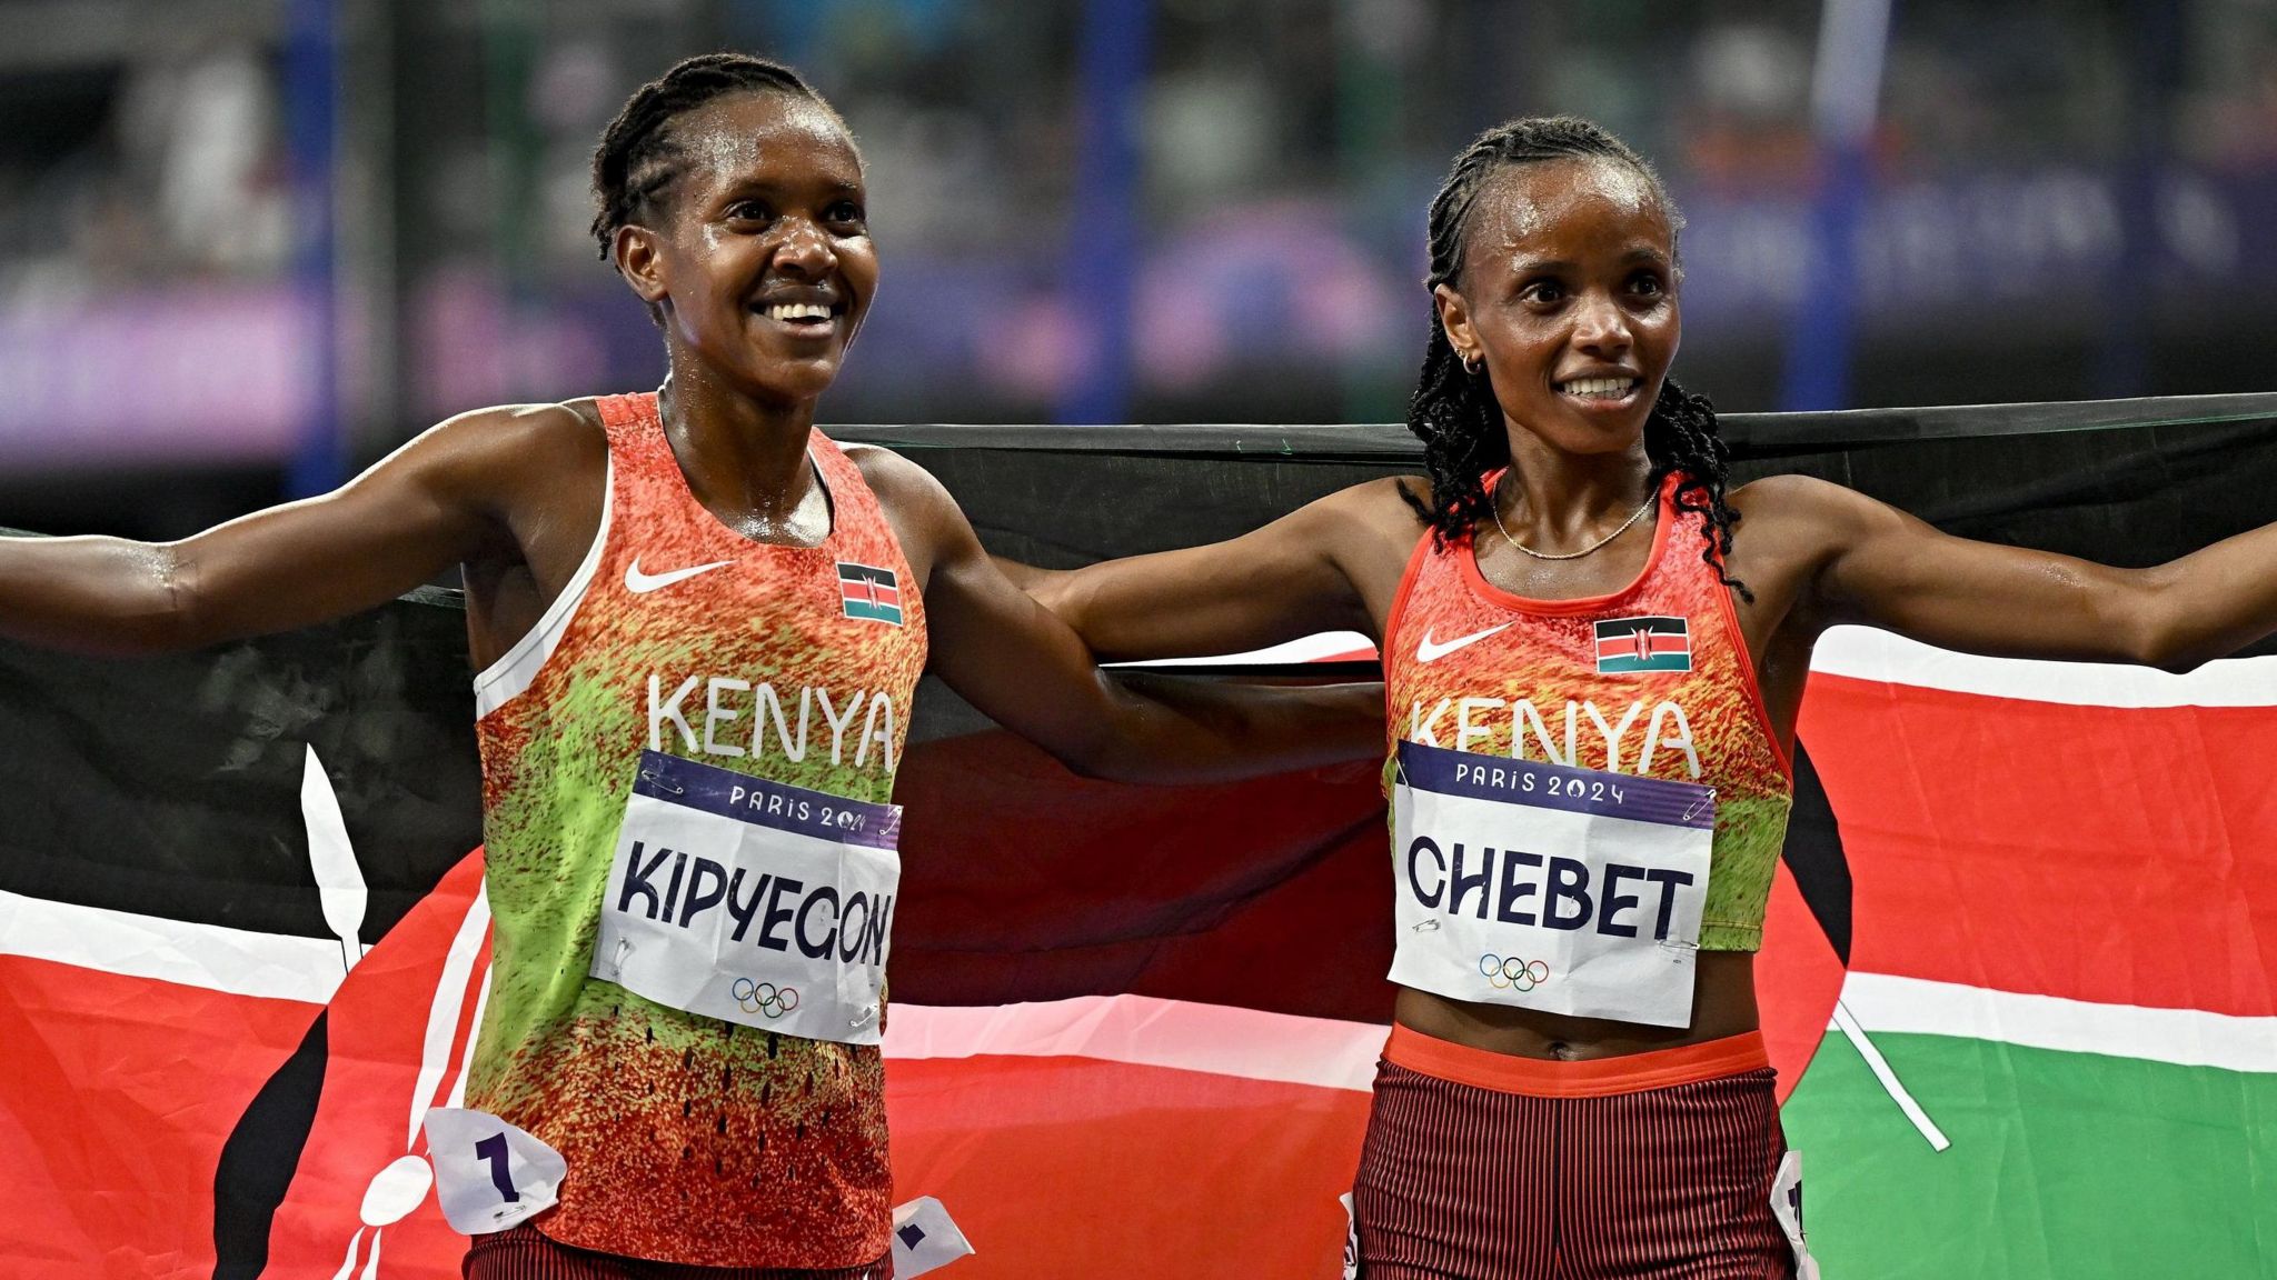
[[[1539,1061],[1391,1027],[1353,1187],[1364,1280],[1794,1275],[1762,1036]]]

